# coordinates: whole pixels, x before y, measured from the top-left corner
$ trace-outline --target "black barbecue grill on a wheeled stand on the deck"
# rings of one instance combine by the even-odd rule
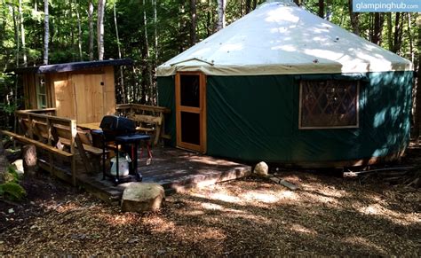
[[[120,176],[119,175],[119,165],[118,165],[118,157],[119,157],[119,146],[122,147],[131,146],[131,174],[136,176],[138,181],[142,180],[142,176],[138,173],[138,145],[140,141],[148,141],[150,136],[145,134],[140,134],[136,132],[136,124],[134,121],[123,117],[123,116],[116,116],[116,115],[106,115],[102,118],[102,121],[99,125],[101,130],[95,130],[93,133],[100,134],[102,136],[102,151],[103,151],[103,163],[102,163],[102,174],[103,179],[106,176],[110,176],[115,184],[123,183],[127,180],[131,179],[131,176]],[[110,142],[113,142],[114,145],[109,145]],[[106,168],[105,168],[105,153],[106,149],[112,149],[115,151],[115,162],[116,162],[116,175],[107,175]],[[143,151],[143,149],[142,149]],[[147,143],[147,154],[148,158],[152,158],[152,154],[149,149],[149,145]],[[141,155],[141,154],[140,154]]]

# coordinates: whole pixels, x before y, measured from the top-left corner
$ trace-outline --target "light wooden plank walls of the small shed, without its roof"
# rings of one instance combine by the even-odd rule
[[[36,74],[22,74],[25,108],[40,108],[36,99]],[[47,104],[57,116],[78,123],[98,122],[115,114],[114,66],[68,73],[45,74]]]

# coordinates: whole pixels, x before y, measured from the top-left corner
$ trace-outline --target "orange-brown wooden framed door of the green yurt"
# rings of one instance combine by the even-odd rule
[[[176,74],[177,146],[206,152],[206,76]]]

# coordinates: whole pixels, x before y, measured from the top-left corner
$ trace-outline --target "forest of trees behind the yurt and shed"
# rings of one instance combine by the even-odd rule
[[[264,0],[0,0],[0,127],[23,108],[7,69],[98,59],[133,59],[117,69],[117,103],[156,105],[155,68],[256,9]],[[421,62],[421,13],[353,12],[352,0],[294,0],[356,35]],[[417,75],[418,74],[418,75]],[[417,73],[418,82],[421,73]],[[421,90],[413,88],[414,137]],[[418,104],[420,103],[420,104]],[[418,105],[417,105],[418,104]]]

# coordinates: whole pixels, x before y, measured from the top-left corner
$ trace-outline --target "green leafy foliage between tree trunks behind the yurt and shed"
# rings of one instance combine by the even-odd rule
[[[156,2],[157,17],[155,20],[154,1]],[[14,90],[14,82],[5,78],[2,72],[13,66],[21,66],[23,63],[23,51],[28,58],[28,66],[40,65],[43,62],[44,52],[44,1],[22,0],[23,30],[26,37],[26,48],[22,49],[20,15],[18,12],[19,1],[0,1],[0,111],[4,114],[12,113],[21,102],[13,103],[11,92]],[[50,42],[49,63],[65,63],[72,61],[88,60],[89,53],[89,3],[94,4],[93,11],[93,56],[98,57],[96,51],[96,21],[97,1],[49,1],[50,13]],[[263,4],[265,0],[250,0],[251,8],[254,4]],[[319,12],[319,0],[300,0],[301,7],[309,12]],[[324,19],[330,20],[340,27],[352,30],[348,0],[324,0]],[[114,4],[116,17],[114,17]],[[188,0],[111,0],[107,1],[105,11],[105,59],[118,59],[118,42],[115,33],[115,19],[119,32],[119,46],[123,58],[134,60],[134,68],[124,69],[123,78],[126,90],[124,94],[129,100],[139,102],[144,98],[147,89],[152,83],[148,82],[151,66],[154,73],[155,67],[171,59],[181,51],[187,50],[192,42],[190,40],[192,19],[191,1]],[[196,0],[196,28],[197,42],[216,32],[218,22],[218,1]],[[77,12],[76,12],[77,11]],[[76,15],[79,13],[79,16]],[[146,26],[144,21],[146,16]],[[246,14],[246,0],[226,1],[226,24],[229,25]],[[371,41],[374,30],[374,13],[364,12],[358,14],[359,30],[362,37]],[[382,14],[382,30],[378,44],[385,49],[396,51],[401,56],[417,63],[421,41],[418,40],[420,30],[417,19],[419,13],[401,13],[400,28],[401,43],[394,45],[394,38],[399,37],[396,33],[395,23],[397,14]],[[79,25],[81,33],[79,35]],[[156,34],[155,34],[156,31]],[[80,42],[79,42],[80,36]],[[158,44],[155,46],[155,36]],[[79,44],[81,52],[79,53]],[[397,50],[394,50],[398,48]],[[115,81],[119,82],[117,74]],[[146,80],[147,79],[147,80]],[[21,84],[20,84],[21,86]],[[122,92],[118,88],[117,92]],[[21,89],[20,89],[21,91]],[[117,93],[120,94],[120,93]],[[8,96],[8,98],[5,98]],[[13,99],[11,102],[10,100]],[[122,99],[122,96],[117,96]],[[6,101],[7,100],[7,101]],[[9,102],[8,102],[9,101]],[[12,119],[9,119],[12,121]],[[2,121],[0,121],[2,122]],[[6,122],[3,122],[6,124]]]

